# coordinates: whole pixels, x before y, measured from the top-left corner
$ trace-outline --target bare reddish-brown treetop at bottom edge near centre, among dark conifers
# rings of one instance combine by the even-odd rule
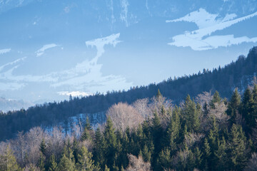
[[[140,155],[138,157],[134,155],[129,155],[129,167],[126,168],[126,171],[150,171],[151,164],[150,162],[144,162],[143,157]]]

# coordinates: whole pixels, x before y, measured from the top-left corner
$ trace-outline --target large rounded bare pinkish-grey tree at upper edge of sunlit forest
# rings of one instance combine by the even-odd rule
[[[112,105],[106,115],[111,118],[114,123],[114,128],[122,130],[123,132],[125,132],[126,128],[136,128],[143,122],[143,116],[139,115],[138,112],[127,103]]]

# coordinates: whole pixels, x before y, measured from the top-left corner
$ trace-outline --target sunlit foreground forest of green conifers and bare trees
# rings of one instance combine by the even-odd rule
[[[0,170],[256,170],[257,85],[230,100],[203,93],[173,105],[160,91],[118,103],[96,130],[32,128],[0,144]]]

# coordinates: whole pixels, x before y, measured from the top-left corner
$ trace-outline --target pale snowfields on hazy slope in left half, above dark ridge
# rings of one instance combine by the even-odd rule
[[[122,76],[103,76],[101,73],[102,65],[97,63],[100,56],[104,54],[105,46],[111,45],[116,47],[119,41],[120,33],[112,34],[104,38],[96,38],[91,41],[86,41],[86,46],[96,48],[96,56],[90,61],[85,60],[76,64],[74,68],[70,68],[64,71],[51,72],[46,75],[34,76],[33,73],[28,75],[14,75],[14,70],[20,66],[20,62],[25,58],[19,58],[11,63],[6,63],[4,66],[0,66],[0,90],[16,90],[29,86],[31,83],[46,83],[48,88],[54,90],[54,93],[60,95],[86,95],[83,92],[104,92],[106,90],[118,90],[119,88],[130,88],[132,83],[127,83],[126,78]],[[46,49],[54,48],[56,44],[45,45],[36,51],[37,53],[44,53]],[[12,66],[4,71],[6,66]],[[10,84],[11,88],[8,88]],[[80,93],[79,93],[80,92]],[[82,92],[82,93],[81,93]]]

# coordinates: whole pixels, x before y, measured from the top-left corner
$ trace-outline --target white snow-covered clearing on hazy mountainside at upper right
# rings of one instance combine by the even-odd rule
[[[194,51],[205,51],[208,49],[218,48],[221,46],[231,46],[243,42],[256,42],[256,37],[248,38],[246,36],[235,38],[233,35],[210,36],[215,31],[221,31],[238,22],[245,21],[257,16],[257,12],[248,16],[234,19],[236,14],[228,14],[223,19],[216,19],[218,14],[208,14],[206,10],[199,9],[191,14],[183,16],[180,19],[168,20],[166,23],[188,21],[198,26],[198,30],[186,31],[183,34],[173,36],[173,42],[168,43],[171,46],[191,47]],[[204,38],[208,36],[207,38]]]

